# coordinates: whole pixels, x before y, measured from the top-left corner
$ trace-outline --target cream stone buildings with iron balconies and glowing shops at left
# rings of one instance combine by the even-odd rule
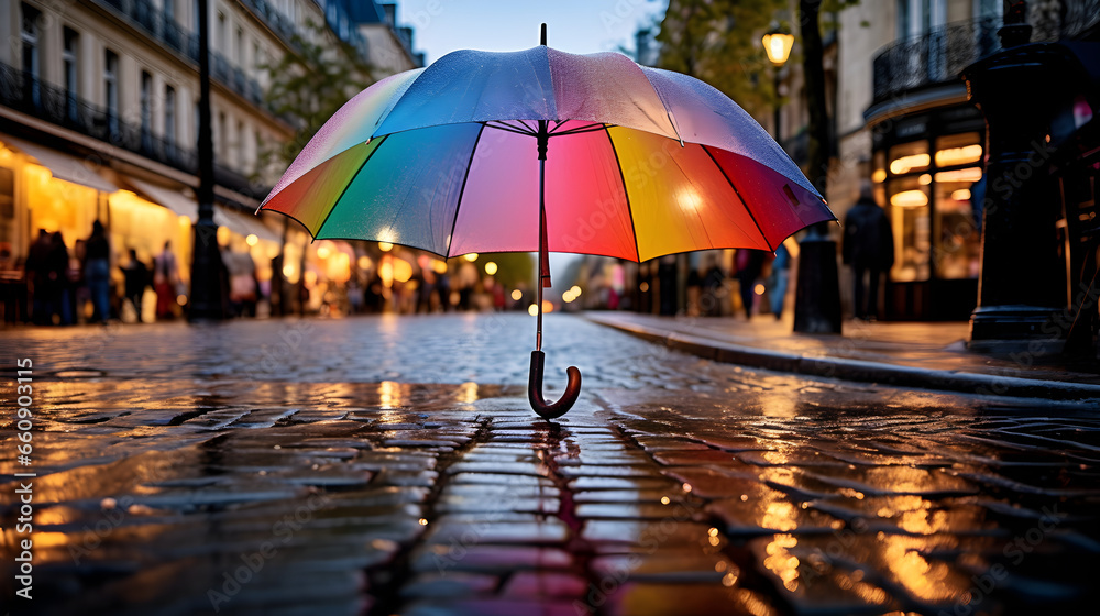
[[[197,2],[0,0],[13,42],[0,47],[0,200],[11,204],[0,208],[0,250],[18,261],[45,230],[78,257],[99,220],[114,265],[130,249],[147,264],[167,243],[186,302],[198,210]],[[295,52],[296,36],[342,41],[378,67],[375,78],[416,66],[411,33],[363,20],[355,10],[366,6],[386,14],[348,0],[209,0],[219,241],[251,256],[262,284],[282,274],[273,257],[289,249],[284,261],[300,262],[294,251],[309,250],[280,217],[252,215],[282,172],[263,154],[299,122],[267,102],[266,67]],[[372,45],[384,38],[374,31],[404,45]]]

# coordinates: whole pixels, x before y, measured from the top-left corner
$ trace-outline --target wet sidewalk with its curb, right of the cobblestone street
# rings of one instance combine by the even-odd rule
[[[593,322],[702,358],[847,381],[978,395],[1100,399],[1100,364],[1056,350],[978,353],[967,323],[845,321],[844,336],[792,332],[790,320],[587,312]]]

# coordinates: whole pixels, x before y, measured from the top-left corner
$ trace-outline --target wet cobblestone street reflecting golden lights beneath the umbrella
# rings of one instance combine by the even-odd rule
[[[522,315],[0,332],[12,614],[1088,614],[1100,411]],[[34,600],[13,597],[34,362]]]

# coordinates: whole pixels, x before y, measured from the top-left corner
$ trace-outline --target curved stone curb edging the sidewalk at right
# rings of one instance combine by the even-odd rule
[[[979,396],[1043,398],[1048,400],[1100,399],[1100,385],[1044,381],[1019,376],[997,376],[947,370],[927,370],[849,360],[844,358],[806,358],[792,353],[739,346],[710,338],[668,332],[638,323],[624,323],[586,317],[588,321],[617,329],[654,342],[722,363],[790,372],[807,376],[840,378],[878,385],[894,385],[921,389],[937,389]]]

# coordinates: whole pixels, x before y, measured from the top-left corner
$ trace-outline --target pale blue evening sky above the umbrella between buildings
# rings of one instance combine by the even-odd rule
[[[634,33],[663,15],[667,0],[398,0],[399,25],[413,28],[428,63],[455,50],[515,52],[547,43],[574,54],[634,50]]]

